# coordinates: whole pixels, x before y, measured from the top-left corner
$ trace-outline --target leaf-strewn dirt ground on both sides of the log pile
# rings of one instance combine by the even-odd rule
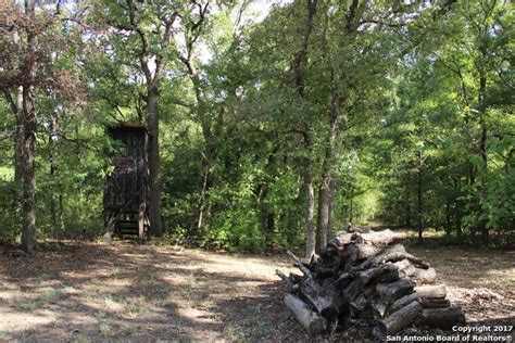
[[[515,252],[409,251],[437,269],[470,323],[515,322]],[[286,256],[116,242],[0,256],[0,342],[306,341],[282,305]]]

